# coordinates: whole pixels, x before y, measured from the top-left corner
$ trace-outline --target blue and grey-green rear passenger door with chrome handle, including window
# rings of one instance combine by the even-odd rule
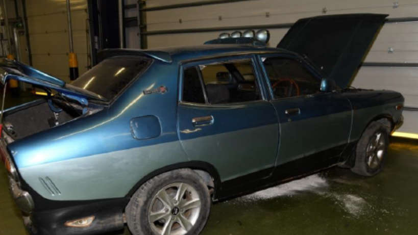
[[[181,143],[190,160],[212,164],[226,188],[267,177],[275,165],[278,119],[260,89],[253,58],[208,60],[182,68]]]

